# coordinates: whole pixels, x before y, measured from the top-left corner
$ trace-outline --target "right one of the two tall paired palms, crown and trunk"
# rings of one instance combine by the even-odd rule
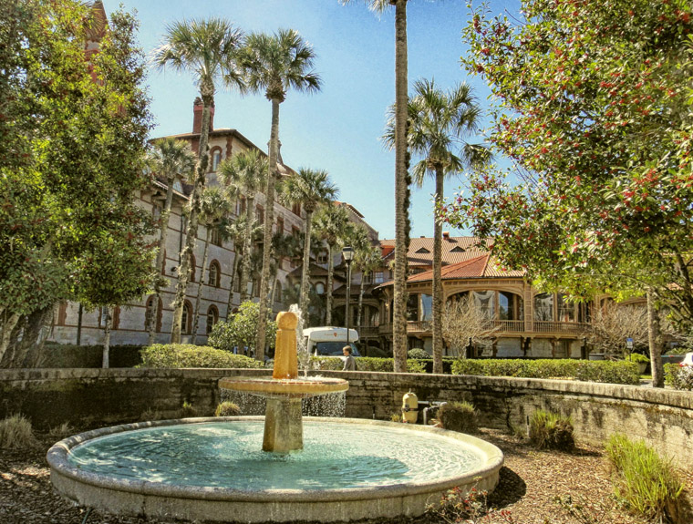
[[[320,77],[313,72],[315,53],[293,29],[281,29],[274,35],[254,33],[248,36],[243,49],[243,69],[250,90],[264,91],[272,102],[270,129],[269,172],[265,189],[263,272],[260,279],[260,318],[257,326],[255,356],[264,359],[265,329],[272,253],[272,224],[274,223],[274,181],[278,178],[279,105],[290,88],[298,91],[317,91]]]

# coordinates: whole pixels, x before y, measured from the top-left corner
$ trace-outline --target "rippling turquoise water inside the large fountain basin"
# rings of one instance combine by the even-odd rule
[[[459,441],[407,429],[304,421],[304,449],[262,451],[262,421],[150,427],[74,447],[84,471],[168,485],[343,489],[436,481],[481,464]]]

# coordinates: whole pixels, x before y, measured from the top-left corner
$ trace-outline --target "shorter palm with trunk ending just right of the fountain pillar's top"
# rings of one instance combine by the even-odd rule
[[[308,318],[310,291],[310,230],[313,213],[321,205],[336,198],[336,186],[329,180],[326,170],[300,169],[294,176],[284,182],[283,198],[292,204],[299,203],[305,210],[305,246],[303,252],[303,270],[301,272],[301,314]]]

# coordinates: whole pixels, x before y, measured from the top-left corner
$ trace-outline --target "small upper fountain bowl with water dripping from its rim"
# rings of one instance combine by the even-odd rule
[[[277,379],[268,376],[226,376],[219,381],[221,389],[255,395],[326,395],[347,391],[349,383],[341,378],[305,377]]]

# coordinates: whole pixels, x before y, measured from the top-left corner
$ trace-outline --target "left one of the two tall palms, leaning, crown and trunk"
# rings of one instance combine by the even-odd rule
[[[181,252],[181,267],[173,305],[171,343],[181,342],[183,303],[188,286],[192,252],[197,238],[200,199],[205,184],[209,162],[208,142],[210,110],[214,105],[215,83],[222,78],[227,87],[243,91],[244,84],[235,65],[235,58],[243,42],[243,33],[222,18],[175,22],[166,27],[161,45],[154,50],[152,61],[161,69],[172,67],[177,71],[190,72],[200,88],[202,98],[202,127],[195,182],[190,196],[190,216],[185,247]]]

